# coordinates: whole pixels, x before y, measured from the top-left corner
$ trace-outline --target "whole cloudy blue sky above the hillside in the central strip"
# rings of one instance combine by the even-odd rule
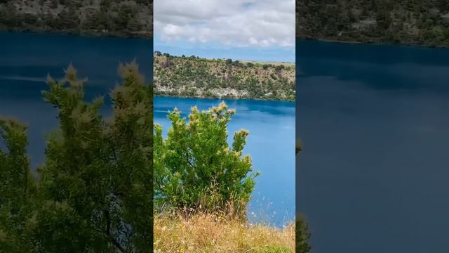
[[[154,50],[295,62],[294,0],[156,0]]]

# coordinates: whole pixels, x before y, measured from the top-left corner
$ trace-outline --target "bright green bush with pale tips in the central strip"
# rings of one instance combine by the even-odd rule
[[[172,127],[165,140],[162,126],[155,126],[156,207],[246,214],[257,173],[251,172],[249,155],[242,157],[248,131],[236,131],[232,148],[227,143],[234,112],[225,103],[203,112],[194,107],[186,122],[175,109],[168,115]]]

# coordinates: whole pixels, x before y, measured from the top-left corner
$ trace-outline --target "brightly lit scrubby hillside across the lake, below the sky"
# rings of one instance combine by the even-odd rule
[[[295,100],[295,65],[154,53],[160,96]]]

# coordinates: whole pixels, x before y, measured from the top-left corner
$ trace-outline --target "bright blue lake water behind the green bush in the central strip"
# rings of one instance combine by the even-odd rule
[[[166,135],[170,127],[168,110],[177,107],[187,116],[194,105],[206,110],[222,100],[198,98],[154,99],[154,122],[162,124]],[[250,221],[283,226],[295,216],[295,103],[262,100],[225,100],[235,108],[228,127],[229,143],[234,132],[247,129],[243,154],[249,154],[253,170],[262,174],[256,178],[248,215]],[[254,214],[253,214],[254,213]]]

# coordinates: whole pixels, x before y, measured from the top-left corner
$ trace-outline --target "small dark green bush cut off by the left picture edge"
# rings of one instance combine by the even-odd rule
[[[29,252],[27,232],[35,184],[26,153],[26,126],[0,119],[0,252]],[[2,147],[3,145],[0,145]]]

